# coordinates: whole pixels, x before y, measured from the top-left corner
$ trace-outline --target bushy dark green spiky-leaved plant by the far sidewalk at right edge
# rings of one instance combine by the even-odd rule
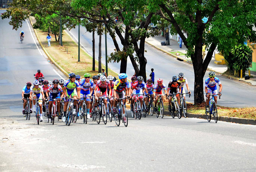
[[[253,50],[244,44],[237,45],[231,50],[233,61],[235,61],[233,67],[237,72],[243,70],[244,75],[249,69],[252,61],[252,52]]]

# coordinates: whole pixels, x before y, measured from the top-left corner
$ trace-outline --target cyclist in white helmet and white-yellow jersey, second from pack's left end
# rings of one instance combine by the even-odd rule
[[[33,82],[33,87],[30,88],[30,98],[32,100],[33,99],[43,99],[44,100],[44,91],[43,88],[39,85],[39,81],[34,81]],[[38,100],[39,102],[39,108],[40,108],[40,121],[43,121],[43,117],[42,117],[42,103],[43,100]],[[35,112],[35,100],[33,100],[33,111]]]

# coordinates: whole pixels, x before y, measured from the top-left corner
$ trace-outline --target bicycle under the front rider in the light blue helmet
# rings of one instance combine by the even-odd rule
[[[120,121],[122,120],[125,127],[127,127],[128,126],[128,117],[127,117],[127,113],[126,113],[125,104],[123,104],[123,101],[122,101],[123,99],[128,99],[128,97],[117,99],[117,100],[120,100],[120,102],[117,103],[117,106],[116,106],[117,114],[114,114],[114,119],[115,119],[117,126],[120,125]]]

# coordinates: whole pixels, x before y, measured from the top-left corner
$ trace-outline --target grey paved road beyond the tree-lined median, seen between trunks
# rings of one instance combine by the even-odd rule
[[[71,30],[71,35],[73,37],[78,38],[78,27]],[[98,45],[99,45],[99,36],[96,34],[95,36],[95,49],[96,55],[98,57]],[[105,36],[102,36],[102,63],[105,64]],[[119,37],[116,37],[119,45],[120,43]],[[85,47],[88,54],[92,56],[92,35],[87,32],[84,27],[80,27],[80,42]],[[107,45],[108,45],[108,54],[114,51],[115,47],[113,44],[113,40],[109,35],[107,35]],[[121,47],[120,47],[121,48]],[[176,60],[176,58],[170,57],[169,55],[164,54],[162,51],[158,51],[155,48],[145,44],[145,49],[147,52],[145,53],[145,57],[147,58],[147,68],[146,72],[149,76],[151,72],[151,68],[155,70],[155,78],[162,78],[164,83],[168,85],[168,82],[171,80],[173,75],[178,75],[178,73],[183,72],[185,77],[188,79],[190,91],[192,91],[192,97],[187,99],[189,102],[194,102],[194,69],[192,65],[188,63],[184,63]],[[120,64],[118,63],[109,63],[108,64],[111,69],[119,72]],[[134,70],[131,64],[130,59],[128,59],[127,63],[127,73],[128,76],[132,76],[134,74]],[[208,72],[204,76],[204,80],[208,77]],[[229,107],[247,107],[247,106],[255,106],[254,97],[256,96],[256,87],[244,84],[242,82],[234,81],[228,79],[226,77],[218,76],[221,80],[223,89],[222,89],[222,97],[221,100],[218,100],[218,104],[222,106]],[[250,95],[248,94],[250,92]]]

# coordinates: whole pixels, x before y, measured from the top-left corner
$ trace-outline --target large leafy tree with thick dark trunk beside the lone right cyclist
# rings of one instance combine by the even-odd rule
[[[167,0],[151,2],[160,7],[162,18],[171,24],[187,47],[194,73],[194,102],[204,102],[203,77],[216,46],[224,53],[245,40],[255,41],[255,0]],[[206,17],[207,22],[202,19]],[[185,35],[187,37],[185,37]],[[202,59],[202,46],[209,50]],[[194,48],[195,46],[195,48]]]

